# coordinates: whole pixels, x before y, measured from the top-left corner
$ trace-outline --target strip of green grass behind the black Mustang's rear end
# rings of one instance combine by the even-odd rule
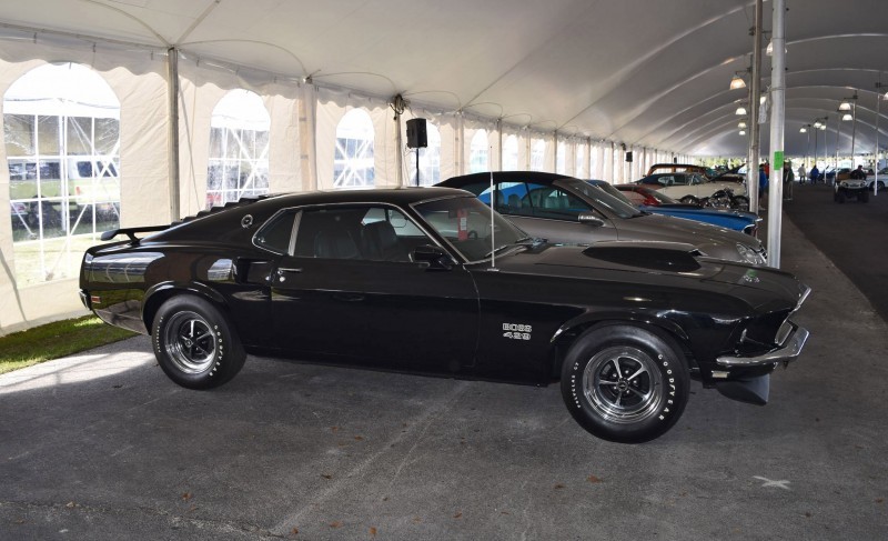
[[[90,350],[130,337],[95,315],[57,321],[0,337],[0,373]]]

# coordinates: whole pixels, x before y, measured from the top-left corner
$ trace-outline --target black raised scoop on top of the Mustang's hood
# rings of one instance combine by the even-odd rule
[[[597,242],[583,254],[607,263],[637,267],[662,272],[694,272],[700,269],[703,253],[682,242]]]

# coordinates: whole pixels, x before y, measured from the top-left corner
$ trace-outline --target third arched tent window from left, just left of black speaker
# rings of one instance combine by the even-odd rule
[[[352,109],[336,126],[336,156],[333,188],[373,186],[373,120],[361,109]]]

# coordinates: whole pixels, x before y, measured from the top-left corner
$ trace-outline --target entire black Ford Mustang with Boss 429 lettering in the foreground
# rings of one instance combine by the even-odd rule
[[[546,244],[462,190],[268,197],[103,240],[119,234],[87,251],[83,302],[150,333],[191,389],[248,353],[559,380],[583,428],[642,442],[675,424],[690,378],[764,404],[808,337],[789,318],[809,289],[786,272],[687,244]]]

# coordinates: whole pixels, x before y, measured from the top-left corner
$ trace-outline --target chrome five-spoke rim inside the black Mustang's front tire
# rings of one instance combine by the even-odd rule
[[[637,348],[599,351],[586,364],[582,381],[589,405],[614,423],[644,421],[663,405],[663,375],[656,361]]]

